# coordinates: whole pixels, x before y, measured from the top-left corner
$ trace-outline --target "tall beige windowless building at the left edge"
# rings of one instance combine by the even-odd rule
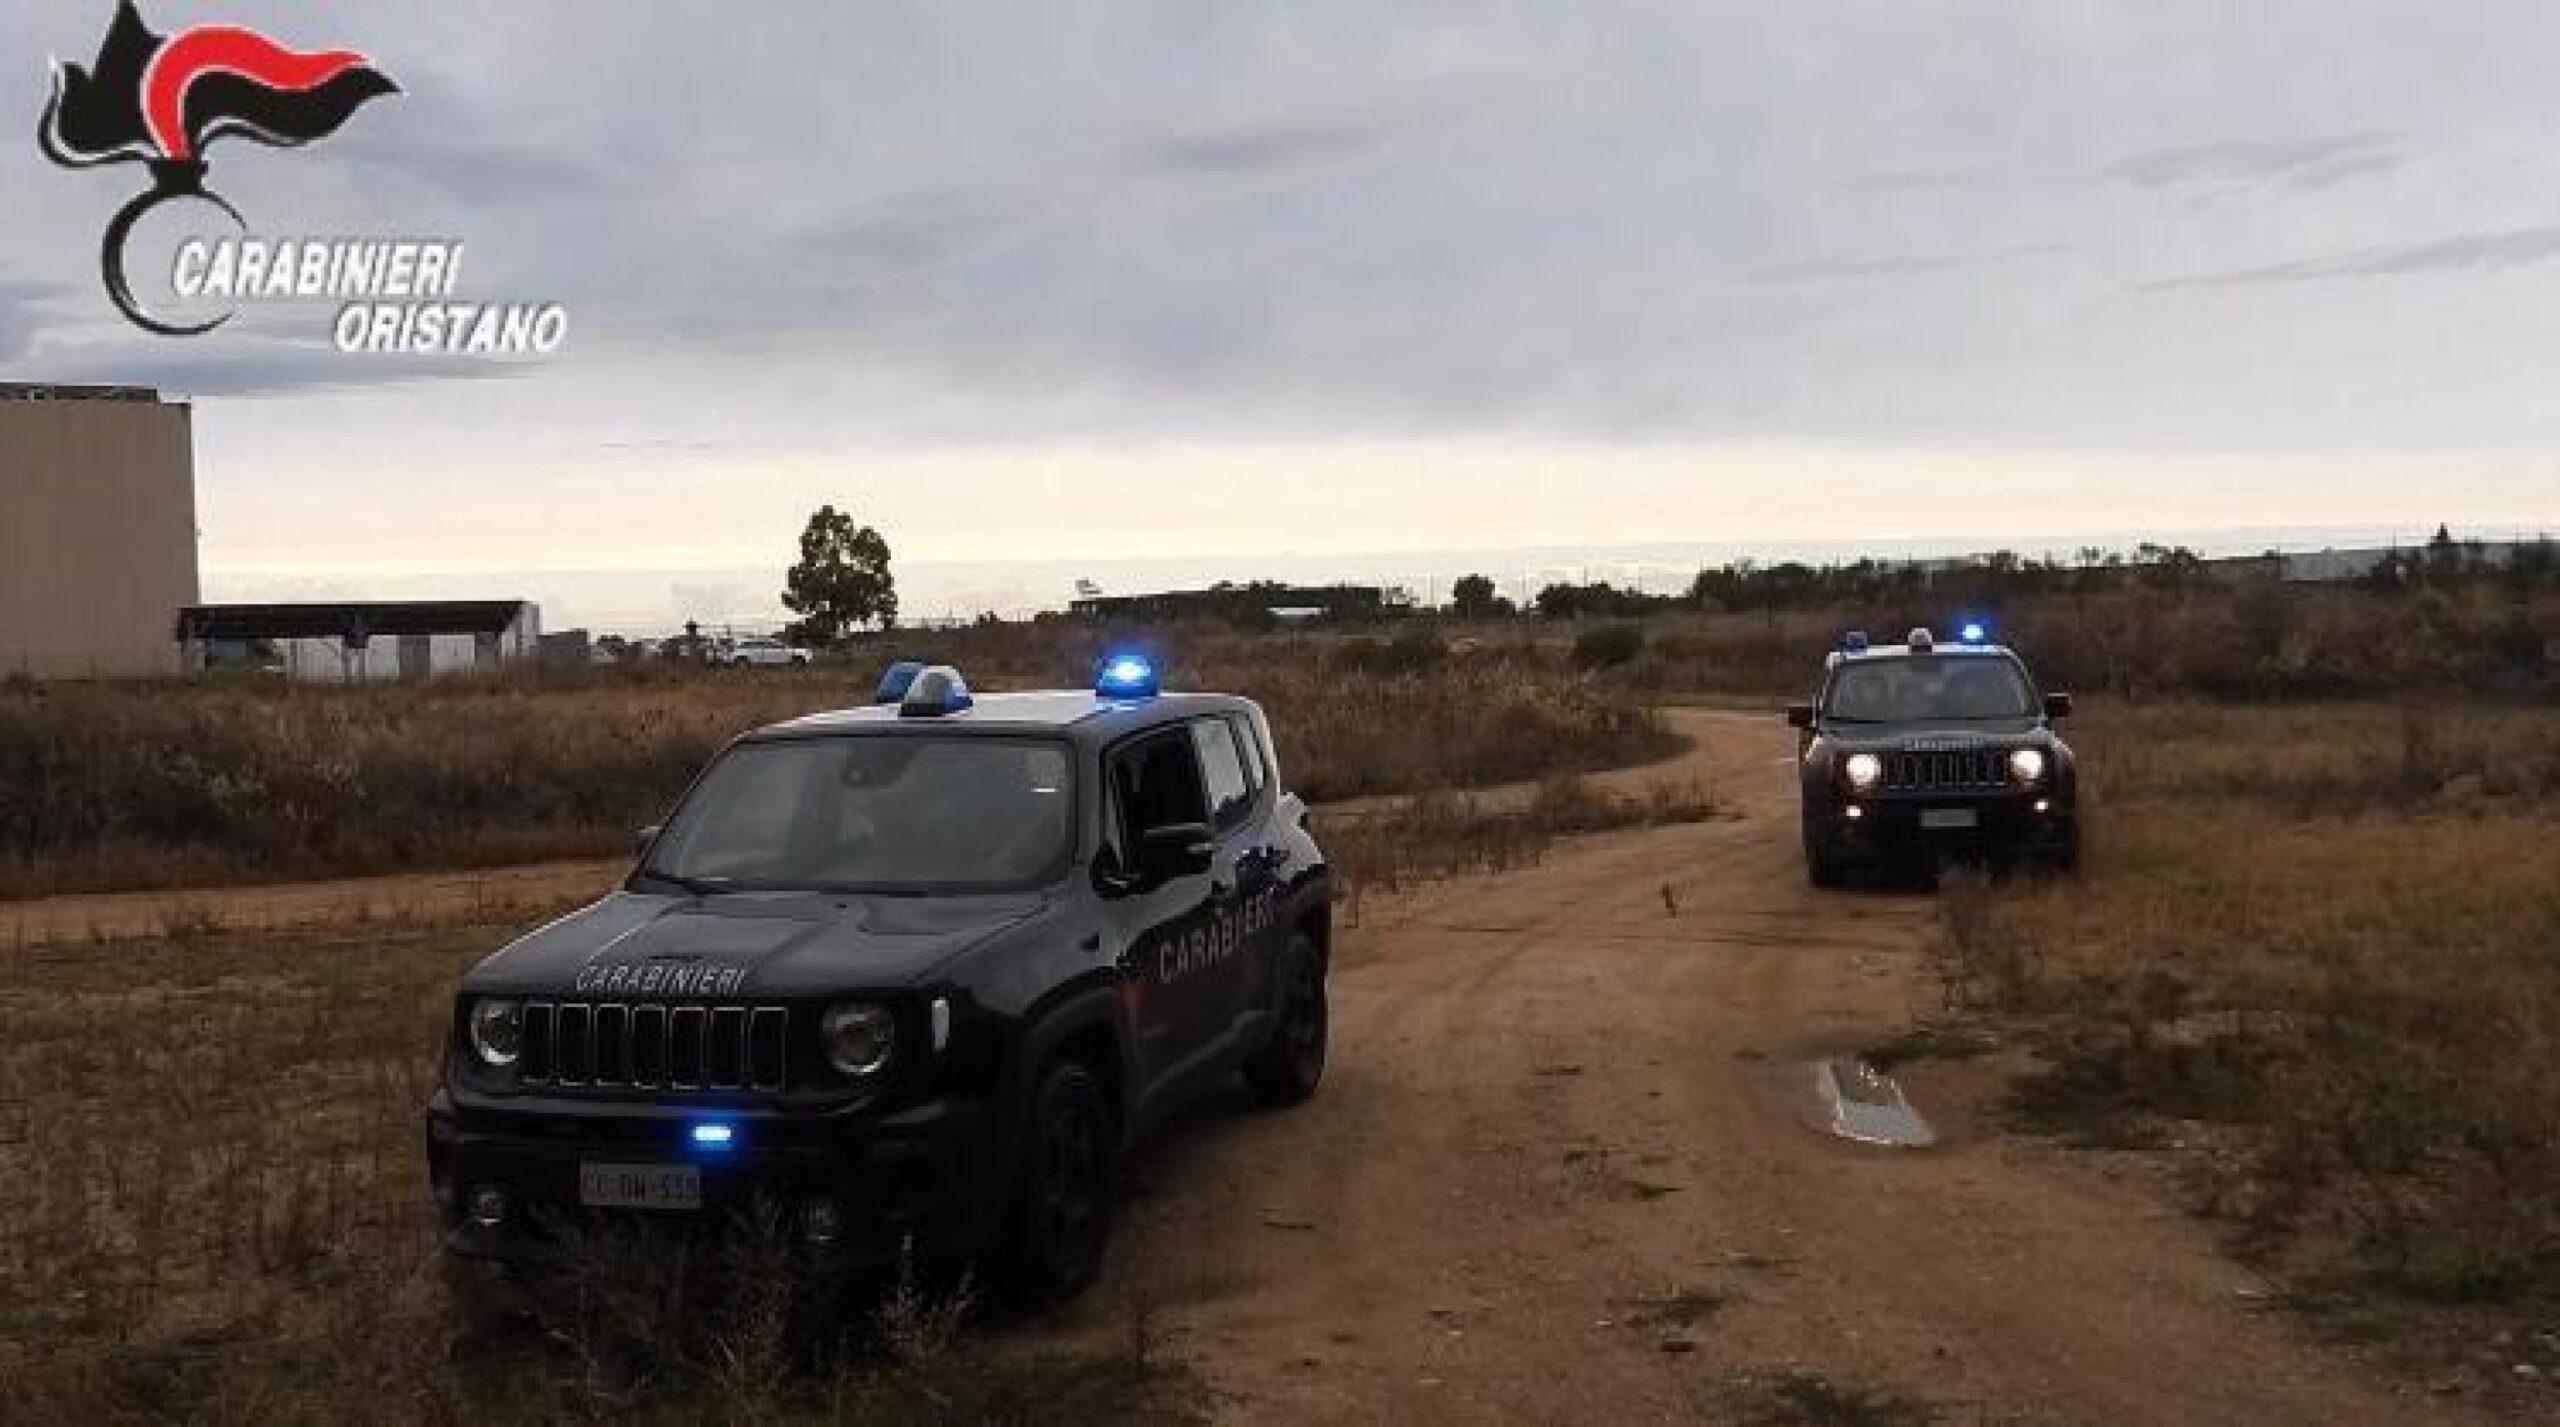
[[[189,407],[0,382],[0,676],[177,674],[197,597]]]

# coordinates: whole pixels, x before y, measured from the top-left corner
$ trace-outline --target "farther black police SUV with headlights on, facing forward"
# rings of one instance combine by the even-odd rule
[[[1979,623],[1956,643],[1912,630],[1869,646],[1851,633],[1823,689],[1789,705],[1800,735],[1805,871],[1833,886],[1851,866],[1951,853],[2079,863],[2079,769],[2058,725],[2071,694],[2040,694],[2017,653]]]

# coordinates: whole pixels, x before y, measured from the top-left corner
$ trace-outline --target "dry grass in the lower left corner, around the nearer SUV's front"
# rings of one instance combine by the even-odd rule
[[[1144,1345],[1034,1355],[916,1291],[817,1312],[753,1232],[596,1243],[497,1312],[489,1284],[448,1284],[420,1104],[451,984],[504,933],[18,961],[0,989],[0,1181],[18,1186],[0,1419],[1190,1419]]]

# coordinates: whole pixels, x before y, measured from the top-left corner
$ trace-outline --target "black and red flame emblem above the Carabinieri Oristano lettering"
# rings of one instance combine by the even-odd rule
[[[97,61],[90,69],[54,67],[54,97],[44,105],[36,141],[46,159],[67,169],[148,164],[151,190],[108,223],[100,272],[108,297],[136,325],[195,336],[228,315],[177,325],[143,313],[125,282],[133,225],[174,197],[202,197],[238,223],[238,210],[205,187],[205,146],[241,136],[300,149],[338,133],[366,100],[397,92],[399,85],[361,54],[302,54],[238,26],[197,26],[164,38],[143,26],[133,0],[120,0]]]

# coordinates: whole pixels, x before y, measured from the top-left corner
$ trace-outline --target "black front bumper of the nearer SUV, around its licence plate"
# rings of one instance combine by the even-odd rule
[[[753,1114],[684,1104],[461,1107],[428,1104],[428,1178],[445,1248],[463,1258],[538,1260],[581,1227],[727,1227],[771,1222],[804,1250],[845,1266],[893,1263],[909,1248],[975,1253],[1004,1207],[1011,1166],[988,1107],[937,1097],[891,1114]],[[722,1150],[694,1125],[735,1127]],[[579,1166],[696,1166],[699,1209],[589,1209]],[[504,1194],[499,1222],[476,1222],[471,1196]],[[827,1209],[817,1209],[824,1204]],[[812,1237],[812,1219],[835,1232]]]

